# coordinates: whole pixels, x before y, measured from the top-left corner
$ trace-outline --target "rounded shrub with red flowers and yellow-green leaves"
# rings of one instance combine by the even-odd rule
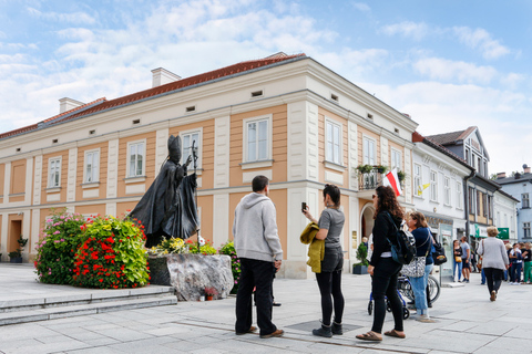
[[[75,253],[73,284],[84,288],[137,288],[149,283],[144,227],[114,217],[82,226],[84,242]]]

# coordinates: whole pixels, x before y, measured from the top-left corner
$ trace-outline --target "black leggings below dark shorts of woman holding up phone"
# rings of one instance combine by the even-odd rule
[[[335,303],[335,322],[341,323],[344,315],[344,295],[341,293],[341,270],[316,273],[319,292],[321,293],[321,323],[330,325],[332,300]]]

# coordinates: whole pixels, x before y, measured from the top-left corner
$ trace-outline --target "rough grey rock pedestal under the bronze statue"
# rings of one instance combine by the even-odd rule
[[[198,301],[205,288],[218,291],[215,299],[227,298],[235,281],[231,257],[226,254],[165,254],[150,257],[150,283],[173,287],[177,301]]]

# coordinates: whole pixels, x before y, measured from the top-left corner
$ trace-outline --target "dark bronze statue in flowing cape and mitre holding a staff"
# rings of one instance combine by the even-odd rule
[[[196,155],[194,156],[194,168]],[[187,239],[197,231],[198,218],[194,192],[196,174],[187,176],[187,167],[192,162],[188,156],[181,165],[181,138],[173,135],[168,138],[168,157],[161,167],[150,189],[144,194],[130,217],[144,225],[146,247],[158,244],[163,237]]]

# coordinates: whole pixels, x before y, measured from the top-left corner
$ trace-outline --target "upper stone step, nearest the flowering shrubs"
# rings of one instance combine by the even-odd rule
[[[175,296],[172,287],[147,285],[137,289],[76,289],[62,295],[37,295],[21,299],[0,300],[0,314],[13,311],[29,311],[49,308],[63,308],[103,302],[126,301],[143,298]]]

